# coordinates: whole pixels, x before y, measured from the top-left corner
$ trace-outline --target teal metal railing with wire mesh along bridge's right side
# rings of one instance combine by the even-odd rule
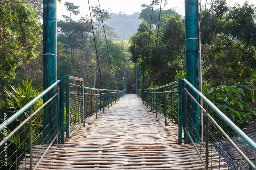
[[[206,169],[255,169],[256,143],[186,79],[136,93],[151,111],[156,111],[156,117],[158,114],[165,117],[165,125],[171,120],[178,126],[178,143],[192,143]],[[175,111],[169,112],[170,109]],[[226,125],[220,127],[219,121]],[[231,127],[243,145],[229,137],[225,132],[227,127]]]

